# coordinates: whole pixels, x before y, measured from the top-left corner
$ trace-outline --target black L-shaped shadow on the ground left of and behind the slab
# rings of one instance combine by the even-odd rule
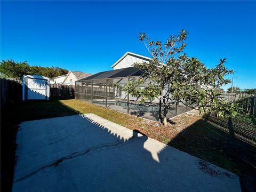
[[[79,111],[58,100],[9,102],[1,114],[1,191],[12,191],[18,124],[35,119],[69,116]]]

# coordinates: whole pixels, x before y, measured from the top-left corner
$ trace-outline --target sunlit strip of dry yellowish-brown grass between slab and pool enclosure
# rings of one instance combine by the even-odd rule
[[[61,100],[60,102],[63,103],[63,105],[70,107],[72,110],[77,110],[82,114],[93,113],[111,122],[125,126],[128,129],[139,130],[148,137],[166,144],[175,138],[183,129],[186,129],[187,126],[201,118],[197,111],[195,111],[193,115],[184,114],[174,118],[173,121],[176,122],[175,124],[169,124],[169,126],[164,127],[161,123],[155,121],[123,114],[118,111],[78,100]]]

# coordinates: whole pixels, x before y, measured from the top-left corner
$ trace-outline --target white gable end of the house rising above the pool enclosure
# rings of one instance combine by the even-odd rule
[[[118,61],[114,63],[111,67],[115,69],[122,69],[122,68],[127,68],[127,67],[133,67],[134,62],[148,62],[151,60],[151,58],[131,53],[131,52],[126,52]]]

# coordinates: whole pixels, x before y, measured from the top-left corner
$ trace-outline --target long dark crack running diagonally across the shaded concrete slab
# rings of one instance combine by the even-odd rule
[[[99,146],[96,146],[96,147],[85,149],[85,150],[83,150],[81,152],[76,151],[76,152],[74,152],[71,155],[63,156],[63,157],[57,159],[56,161],[54,161],[53,163],[50,163],[50,164],[45,165],[45,166],[42,166],[42,167],[32,171],[31,173],[28,173],[25,176],[23,176],[23,177],[21,177],[21,178],[19,178],[17,180],[14,180],[13,183],[21,181],[23,179],[26,179],[28,177],[31,177],[32,175],[36,174],[39,171],[42,171],[42,170],[46,169],[47,167],[51,167],[51,166],[56,167],[60,163],[62,163],[63,161],[66,161],[68,159],[72,159],[72,158],[79,157],[79,156],[82,156],[82,155],[90,154],[90,153],[93,153],[94,151],[99,151],[99,150],[102,150],[102,149],[108,149],[108,148],[115,147],[115,146],[122,146],[124,143],[126,143],[128,141],[139,140],[141,138],[143,138],[143,137],[134,137],[134,136],[132,136],[131,138],[127,139],[126,141],[116,142],[116,143],[105,143],[103,145],[99,145]]]

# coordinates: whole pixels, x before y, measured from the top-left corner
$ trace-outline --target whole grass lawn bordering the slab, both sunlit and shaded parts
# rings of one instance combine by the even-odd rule
[[[230,119],[210,116],[206,120],[195,112],[194,115],[181,115],[173,119],[174,125],[164,127],[157,122],[78,100],[51,100],[23,102],[14,106],[8,112],[5,126],[11,129],[11,125],[22,121],[80,113],[93,113],[128,129],[139,130],[150,138],[230,170],[239,175],[244,191],[255,187],[256,121],[251,116]]]

